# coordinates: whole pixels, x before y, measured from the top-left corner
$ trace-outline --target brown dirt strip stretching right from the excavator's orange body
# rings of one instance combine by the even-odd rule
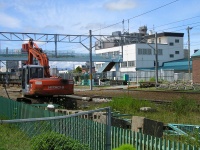
[[[172,101],[181,97],[187,97],[200,102],[200,93],[180,92],[180,91],[150,91],[137,89],[103,88],[94,90],[75,90],[76,95],[120,97],[132,96],[136,99],[165,100]]]

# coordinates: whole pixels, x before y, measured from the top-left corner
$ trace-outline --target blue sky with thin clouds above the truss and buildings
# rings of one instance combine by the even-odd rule
[[[199,0],[0,0],[0,32],[82,35],[92,30],[95,35],[111,35],[138,32],[145,25],[148,32],[184,33],[184,48],[188,48],[189,26],[192,55],[200,48],[199,5]],[[20,49],[22,43],[0,41],[0,49]],[[54,49],[50,43],[38,45]],[[88,53],[81,44],[58,43],[59,51]],[[66,68],[72,64],[50,63]]]

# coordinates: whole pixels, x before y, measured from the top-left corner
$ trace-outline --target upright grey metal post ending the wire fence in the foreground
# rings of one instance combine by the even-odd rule
[[[111,109],[110,107],[107,110],[106,117],[106,143],[105,150],[111,150]]]

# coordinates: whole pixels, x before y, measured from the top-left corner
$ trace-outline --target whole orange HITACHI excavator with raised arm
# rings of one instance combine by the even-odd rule
[[[41,48],[30,39],[22,44],[28,52],[28,61],[22,68],[22,94],[24,96],[59,96],[74,94],[73,80],[50,75],[49,60]],[[36,59],[39,65],[34,64]]]

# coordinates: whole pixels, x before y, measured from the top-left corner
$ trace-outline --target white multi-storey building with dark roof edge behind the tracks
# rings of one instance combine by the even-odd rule
[[[164,62],[185,58],[183,49],[183,33],[163,32],[157,34],[158,66]],[[147,43],[126,43],[123,46],[96,48],[96,54],[102,56],[121,55],[121,62],[109,71],[130,72],[141,68],[155,66],[155,34],[146,36]],[[99,71],[105,62],[96,63]],[[107,70],[108,71],[108,70]]]

